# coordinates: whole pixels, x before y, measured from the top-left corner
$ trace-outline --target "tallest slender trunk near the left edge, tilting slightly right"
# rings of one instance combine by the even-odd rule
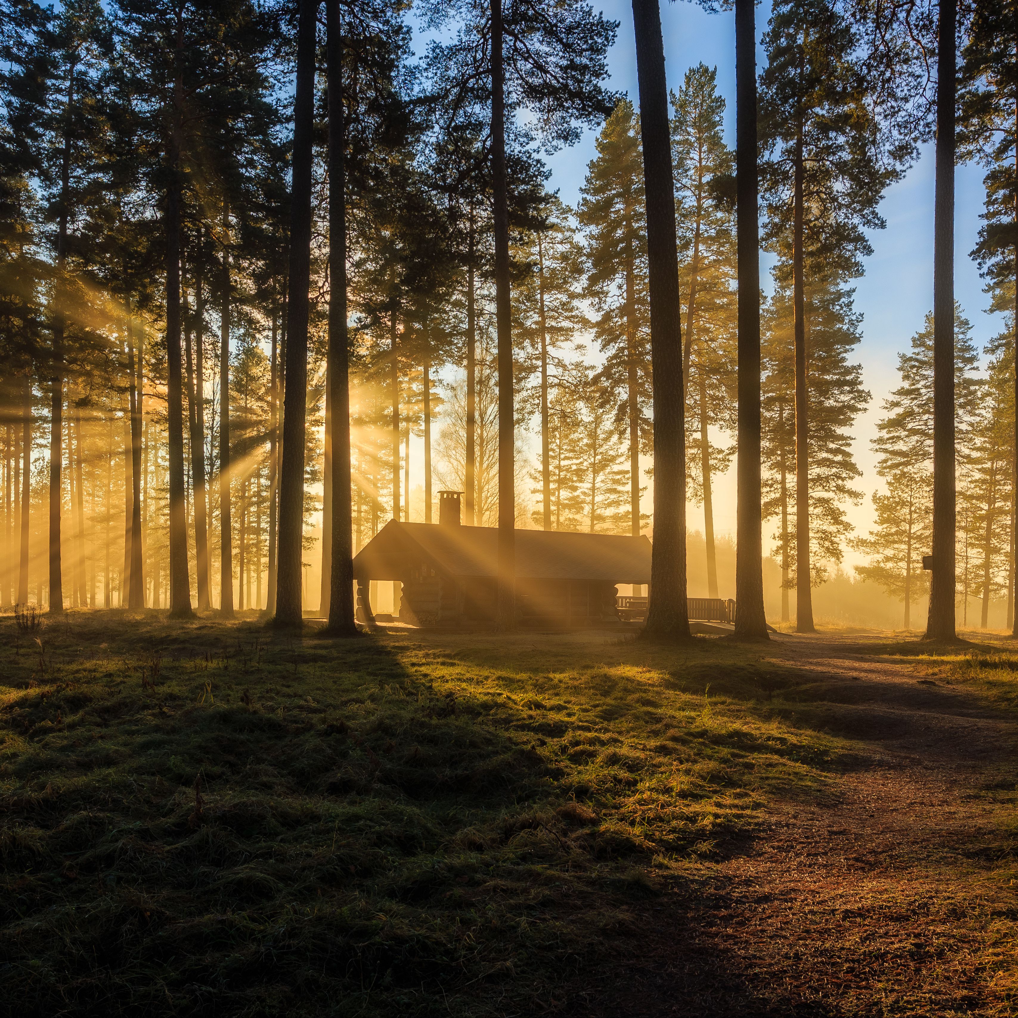
[[[70,123],[74,103],[74,69],[71,63],[67,84],[67,108],[64,118],[63,155],[60,160],[60,211],[57,220],[57,281],[53,316],[53,374],[50,403],[50,612],[63,612],[61,575],[60,509],[63,502],[60,467],[63,460],[63,376],[64,316],[60,306],[62,273],[67,262],[67,202],[70,196]]]

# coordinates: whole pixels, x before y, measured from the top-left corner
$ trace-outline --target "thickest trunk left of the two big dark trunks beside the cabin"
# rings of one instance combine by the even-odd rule
[[[166,192],[166,412],[170,489],[170,615],[191,615],[187,574],[187,519],[184,511],[183,382],[180,357],[180,130],[183,118],[183,6],[177,13],[170,181]]]

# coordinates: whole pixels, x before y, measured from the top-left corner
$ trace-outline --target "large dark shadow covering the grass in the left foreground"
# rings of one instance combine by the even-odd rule
[[[555,844],[520,819],[548,761],[384,641],[109,616],[44,635],[45,674],[8,648],[0,710],[19,1014],[427,1012],[477,973],[456,930],[485,846],[511,870],[521,832]]]

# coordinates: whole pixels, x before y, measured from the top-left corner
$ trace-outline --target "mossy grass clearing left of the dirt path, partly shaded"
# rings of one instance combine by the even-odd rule
[[[840,744],[702,639],[0,619],[19,1015],[554,1011]],[[16,1004],[15,1004],[16,1002]]]

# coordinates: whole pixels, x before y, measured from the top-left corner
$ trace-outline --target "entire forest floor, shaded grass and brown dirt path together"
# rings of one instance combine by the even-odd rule
[[[0,617],[0,1014],[1014,1015],[1018,653],[887,639]]]

